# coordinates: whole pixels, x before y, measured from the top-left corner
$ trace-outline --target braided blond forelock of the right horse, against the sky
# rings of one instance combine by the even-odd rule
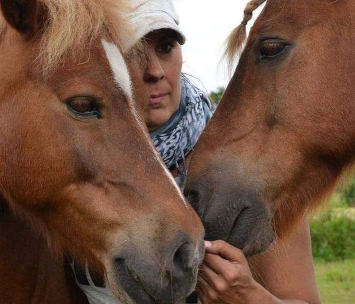
[[[232,30],[230,35],[226,40],[226,49],[222,56],[223,59],[226,59],[228,70],[231,71],[234,65],[235,59],[240,55],[245,41],[247,39],[247,23],[252,18],[252,13],[256,10],[261,4],[267,0],[251,0],[247,3],[244,9],[244,18],[243,21]]]

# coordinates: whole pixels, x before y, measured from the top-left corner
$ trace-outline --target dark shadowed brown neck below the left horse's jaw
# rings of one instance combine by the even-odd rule
[[[54,258],[42,236],[5,208],[0,231],[1,303],[87,303],[64,259]]]

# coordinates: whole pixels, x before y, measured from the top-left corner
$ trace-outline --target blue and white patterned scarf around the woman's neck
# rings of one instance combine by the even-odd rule
[[[183,75],[179,109],[162,127],[149,133],[168,168],[178,167],[180,161],[185,161],[211,116],[206,94]]]

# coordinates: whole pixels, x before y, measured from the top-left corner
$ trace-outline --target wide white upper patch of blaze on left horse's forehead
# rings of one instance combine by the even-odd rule
[[[123,90],[127,97],[132,100],[133,94],[131,77],[121,51],[117,46],[112,43],[108,43],[104,39],[102,40],[102,44],[117,85]]]

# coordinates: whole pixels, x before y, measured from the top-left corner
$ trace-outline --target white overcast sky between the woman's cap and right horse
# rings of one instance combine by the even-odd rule
[[[248,1],[173,0],[180,15],[180,28],[187,38],[183,71],[199,78],[208,92],[226,87],[229,82],[225,65],[219,65],[219,61],[224,42],[242,21]],[[260,11],[261,8],[255,12],[253,20]]]

